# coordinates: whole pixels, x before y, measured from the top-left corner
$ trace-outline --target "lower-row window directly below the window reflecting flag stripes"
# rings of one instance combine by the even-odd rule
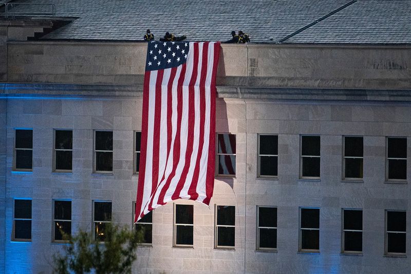
[[[216,205],[215,224],[215,247],[234,248],[235,206]]]

